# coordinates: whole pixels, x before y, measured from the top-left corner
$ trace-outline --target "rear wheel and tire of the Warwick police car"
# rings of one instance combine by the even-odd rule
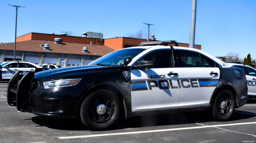
[[[212,116],[218,121],[229,119],[234,112],[234,96],[228,90],[219,92],[212,106]]]

